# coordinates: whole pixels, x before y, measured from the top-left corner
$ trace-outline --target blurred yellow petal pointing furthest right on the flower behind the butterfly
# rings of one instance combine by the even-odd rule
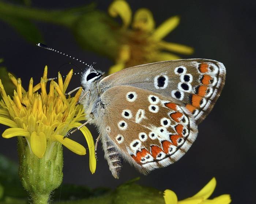
[[[161,41],[158,44],[159,44],[159,47],[164,50],[178,52],[184,55],[191,55],[194,52],[194,49],[192,47],[185,46],[178,43],[169,43],[169,42]]]

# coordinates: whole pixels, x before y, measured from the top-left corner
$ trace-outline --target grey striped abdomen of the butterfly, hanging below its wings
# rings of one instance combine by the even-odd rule
[[[117,151],[114,142],[109,139],[109,136],[101,137],[102,148],[105,153],[105,159],[108,161],[109,170],[114,178],[119,178],[123,167],[123,159],[120,152]]]

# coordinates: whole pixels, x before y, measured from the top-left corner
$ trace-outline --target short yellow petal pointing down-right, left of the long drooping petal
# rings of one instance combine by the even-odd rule
[[[54,135],[54,138],[59,141],[61,144],[63,144],[66,148],[71,150],[72,152],[79,154],[79,155],[84,155],[86,154],[86,149],[80,145],[78,142],[75,142],[74,140],[70,140],[69,138],[65,138],[63,140],[62,135]]]

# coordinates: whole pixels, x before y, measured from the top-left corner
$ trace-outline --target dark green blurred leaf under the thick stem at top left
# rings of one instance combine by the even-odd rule
[[[0,15],[0,18],[10,24],[28,42],[33,44],[43,42],[40,31],[30,20],[8,15]]]

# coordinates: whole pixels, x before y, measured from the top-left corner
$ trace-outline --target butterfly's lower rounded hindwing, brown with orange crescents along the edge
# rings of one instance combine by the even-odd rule
[[[142,173],[177,161],[196,139],[191,113],[161,94],[114,86],[101,95],[101,102],[102,135],[107,135],[114,149]]]

